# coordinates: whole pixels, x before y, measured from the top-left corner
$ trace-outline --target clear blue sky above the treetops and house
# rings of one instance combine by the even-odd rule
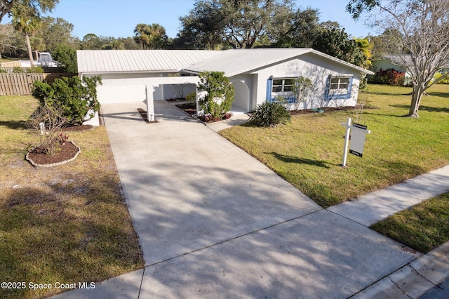
[[[89,33],[97,36],[134,36],[135,25],[158,23],[166,29],[169,37],[180,31],[180,16],[185,16],[194,7],[194,0],[60,0],[50,14],[63,18],[74,25],[72,34],[83,39]],[[318,8],[321,21],[337,21],[354,37],[375,35],[373,29],[365,27],[363,20],[354,22],[344,11],[349,0],[297,0],[300,8]],[[1,23],[9,22],[4,18]]]

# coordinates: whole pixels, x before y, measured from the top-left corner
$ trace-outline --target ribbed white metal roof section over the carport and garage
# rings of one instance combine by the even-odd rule
[[[78,50],[78,72],[179,72],[217,55],[204,50]]]

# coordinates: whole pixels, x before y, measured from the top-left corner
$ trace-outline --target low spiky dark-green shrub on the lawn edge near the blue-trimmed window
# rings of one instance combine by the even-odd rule
[[[290,122],[290,112],[281,102],[264,102],[257,105],[249,122],[256,126],[276,126]]]

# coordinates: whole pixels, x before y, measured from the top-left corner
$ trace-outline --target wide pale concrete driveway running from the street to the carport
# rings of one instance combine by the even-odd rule
[[[364,206],[324,210],[211,128],[155,105],[157,124],[142,121],[140,102],[102,107],[145,269],[58,298],[373,298],[413,271],[438,277],[429,288],[449,276],[449,246],[422,255],[350,212]],[[449,168],[437,175],[449,185]],[[424,267],[436,261],[438,275]]]

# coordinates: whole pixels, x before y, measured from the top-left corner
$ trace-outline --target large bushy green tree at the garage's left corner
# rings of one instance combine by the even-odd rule
[[[55,79],[52,85],[34,81],[32,95],[39,100],[41,106],[61,107],[62,117],[68,125],[82,124],[86,116],[93,117],[100,109],[97,100],[97,85],[100,77],[64,77]]]

